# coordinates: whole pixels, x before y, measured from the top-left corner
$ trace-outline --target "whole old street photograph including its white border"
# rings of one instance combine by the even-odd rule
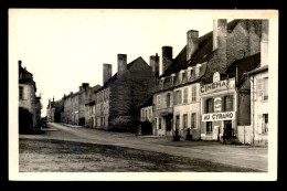
[[[278,11],[9,9],[9,179],[277,180]]]

